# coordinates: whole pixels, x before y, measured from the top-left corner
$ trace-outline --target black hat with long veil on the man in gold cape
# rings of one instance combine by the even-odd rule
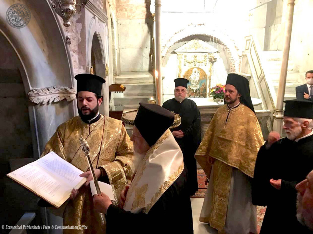
[[[229,73],[225,85],[233,85],[241,94],[240,102],[255,113],[250,96],[249,80],[247,78],[236,73]]]

